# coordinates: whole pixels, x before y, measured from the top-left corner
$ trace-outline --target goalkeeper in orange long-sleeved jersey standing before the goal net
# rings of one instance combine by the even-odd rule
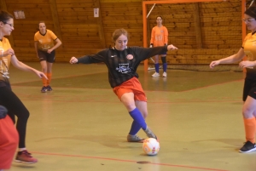
[[[158,16],[156,17],[156,23],[157,26],[154,26],[151,31],[151,40],[150,40],[150,48],[151,47],[157,47],[157,46],[164,46],[168,43],[168,31],[166,29],[166,26],[162,25],[162,17]],[[152,75],[152,77],[159,77],[159,55],[161,56],[161,60],[163,63],[163,77],[167,77],[167,63],[166,63],[166,53],[164,54],[157,54],[154,56],[154,68],[155,72]]]

